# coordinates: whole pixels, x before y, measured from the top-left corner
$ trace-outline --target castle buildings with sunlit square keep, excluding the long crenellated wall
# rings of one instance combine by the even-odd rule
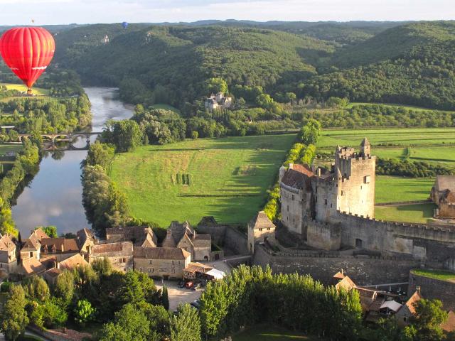
[[[337,212],[375,215],[376,158],[363,139],[360,153],[338,146],[331,171],[309,166],[280,168],[282,222],[290,231],[306,234],[309,220],[336,221]]]

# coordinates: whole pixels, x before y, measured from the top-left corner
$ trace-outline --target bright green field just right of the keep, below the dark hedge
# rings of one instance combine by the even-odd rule
[[[378,175],[376,176],[375,202],[427,200],[433,185],[433,178]]]

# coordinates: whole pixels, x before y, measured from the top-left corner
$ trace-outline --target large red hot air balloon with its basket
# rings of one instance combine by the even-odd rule
[[[0,54],[6,65],[28,87],[48,67],[55,50],[53,36],[41,27],[11,28],[0,38]]]

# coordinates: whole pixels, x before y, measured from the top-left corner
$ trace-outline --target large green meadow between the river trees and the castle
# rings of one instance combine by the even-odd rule
[[[246,223],[266,199],[295,135],[187,140],[119,153],[110,175],[132,215],[167,227],[204,215]]]

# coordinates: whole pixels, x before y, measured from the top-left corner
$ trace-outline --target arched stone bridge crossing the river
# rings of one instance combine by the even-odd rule
[[[80,132],[80,133],[56,133],[56,134],[41,134],[43,138],[43,150],[85,150],[90,146],[90,137],[98,136],[100,132]],[[31,138],[32,134],[18,134],[18,141],[22,142],[25,139]],[[85,139],[86,144],[83,147],[74,146],[77,139]],[[57,146],[57,142],[67,142],[66,146]]]

